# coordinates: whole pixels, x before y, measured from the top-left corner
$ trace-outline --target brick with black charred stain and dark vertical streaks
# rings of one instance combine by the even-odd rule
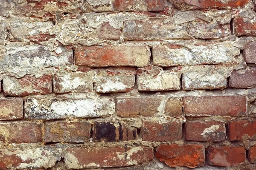
[[[96,142],[118,142],[137,139],[137,129],[122,122],[96,122],[93,126]]]

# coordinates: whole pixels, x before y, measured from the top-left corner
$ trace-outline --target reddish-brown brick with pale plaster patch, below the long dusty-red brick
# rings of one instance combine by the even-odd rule
[[[220,142],[226,137],[225,124],[218,121],[189,121],[185,124],[186,140]]]

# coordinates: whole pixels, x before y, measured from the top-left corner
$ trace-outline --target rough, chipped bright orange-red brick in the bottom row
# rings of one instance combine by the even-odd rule
[[[205,148],[202,144],[161,144],[156,156],[170,167],[186,166],[189,168],[204,166]]]

